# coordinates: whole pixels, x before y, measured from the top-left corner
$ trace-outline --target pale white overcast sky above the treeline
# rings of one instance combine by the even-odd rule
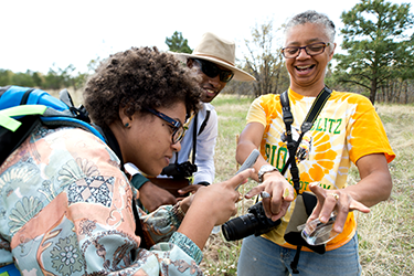
[[[390,1],[390,0],[389,0]],[[413,0],[391,0],[407,3]],[[92,60],[131,46],[167,51],[166,38],[178,31],[194,49],[205,32],[236,43],[236,57],[246,53],[252,29],[274,22],[279,28],[290,17],[316,10],[337,26],[340,15],[360,0],[0,0],[0,68],[47,73],[49,68],[87,72]],[[411,13],[413,13],[413,3]],[[337,35],[340,44],[341,38]],[[337,49],[340,51],[340,46]]]

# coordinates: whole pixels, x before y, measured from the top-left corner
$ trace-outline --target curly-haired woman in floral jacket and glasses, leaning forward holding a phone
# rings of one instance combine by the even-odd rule
[[[14,262],[28,275],[202,275],[201,250],[235,213],[235,187],[252,170],[149,214],[124,173],[127,162],[161,172],[181,148],[199,89],[194,74],[156,47],[103,62],[84,104],[107,144],[79,128],[42,126],[1,166],[1,194],[19,199],[1,200],[14,215],[2,217],[0,266]]]

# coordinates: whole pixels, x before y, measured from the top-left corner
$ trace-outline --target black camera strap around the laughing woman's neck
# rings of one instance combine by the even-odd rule
[[[290,164],[290,174],[291,174],[291,180],[294,182],[294,188],[296,191],[296,194],[299,197],[300,195],[300,178],[299,178],[299,169],[296,163],[296,151],[297,148],[300,145],[301,139],[304,138],[304,135],[310,130],[314,126],[314,123],[320,112],[322,110],[325,104],[327,103],[328,98],[330,97],[330,94],[332,93],[331,89],[329,89],[327,86],[322,88],[322,91],[318,94],[317,98],[314,100],[312,106],[310,107],[310,110],[308,112],[304,123],[300,126],[300,135],[297,141],[295,141],[291,138],[291,124],[294,123],[294,116],[290,112],[290,104],[289,104],[289,96],[288,96],[288,91],[285,91],[280,95],[280,104],[282,104],[282,112],[283,112],[283,119],[285,123],[286,127],[286,142],[287,142],[287,149],[289,152],[289,158],[287,162],[285,163],[284,168],[282,169],[280,173],[282,176],[285,174],[287,168]],[[291,220],[291,217],[290,217]],[[302,245],[299,244],[297,245],[296,248],[296,254],[294,257],[294,261],[290,263],[290,268],[293,270],[293,274],[298,274],[299,270],[297,268],[297,265],[299,263],[299,256],[300,256],[300,251],[301,251]],[[323,250],[325,252],[325,250]]]

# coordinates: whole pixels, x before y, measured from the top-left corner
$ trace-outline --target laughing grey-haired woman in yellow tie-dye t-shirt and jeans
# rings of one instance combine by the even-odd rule
[[[288,97],[294,116],[293,138],[300,134],[300,125],[318,94],[323,91],[327,64],[333,56],[335,25],[325,14],[307,11],[294,17],[286,25],[283,54],[290,76]],[[246,198],[262,192],[263,206],[268,217],[280,219],[275,230],[243,241],[237,275],[360,275],[354,210],[369,208],[386,200],[392,189],[388,162],[394,159],[382,123],[370,100],[353,93],[333,91],[304,140],[305,158],[297,164],[300,193],[314,193],[318,203],[308,221],[327,222],[337,212],[333,231],[339,233],[326,244],[326,253],[318,254],[285,241],[284,235],[296,203],[289,170],[279,170],[288,159],[279,95],[264,95],[252,104],[247,125],[237,145],[236,159],[243,162],[258,148],[262,156],[255,163],[262,180]],[[361,181],[347,185],[353,162]],[[263,193],[262,193],[263,194]],[[291,264],[293,267],[291,267]]]

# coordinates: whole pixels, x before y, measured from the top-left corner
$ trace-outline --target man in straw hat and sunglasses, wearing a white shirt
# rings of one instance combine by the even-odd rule
[[[141,178],[141,182],[137,183],[141,202],[148,211],[163,204],[174,204],[176,198],[195,192],[201,185],[213,183],[217,114],[210,103],[231,79],[255,81],[252,75],[235,66],[234,42],[210,32],[203,34],[192,54],[177,53],[177,57],[200,75],[200,87],[203,89],[202,108],[189,119],[181,150],[170,160],[170,166],[166,167],[158,178],[150,178],[150,181]],[[189,185],[188,178],[191,176],[192,185]],[[176,197],[159,188],[174,187],[171,179],[174,179],[177,187],[183,187],[176,191]]]

